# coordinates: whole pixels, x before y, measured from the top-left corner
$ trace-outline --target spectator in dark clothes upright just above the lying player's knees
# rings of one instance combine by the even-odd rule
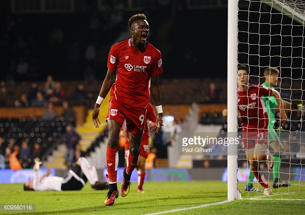
[[[66,133],[63,135],[62,142],[67,148],[64,154],[67,166],[71,166],[73,162],[75,145],[77,145],[81,139],[81,136],[73,130],[72,126],[66,127]]]

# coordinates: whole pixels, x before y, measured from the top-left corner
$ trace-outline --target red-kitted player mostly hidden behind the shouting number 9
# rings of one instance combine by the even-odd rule
[[[140,147],[140,157],[138,162],[138,192],[144,192],[143,190],[143,184],[144,184],[144,178],[146,175],[146,169],[145,169],[145,161],[146,158],[150,152],[150,144],[149,144],[149,130],[152,128],[156,123],[156,114],[154,111],[154,106],[151,103],[148,103],[146,108],[146,126],[144,128],[144,134],[141,141],[141,147]],[[129,142],[128,142],[128,134],[127,134],[127,141],[125,143],[125,159],[127,163],[127,158],[129,154]]]

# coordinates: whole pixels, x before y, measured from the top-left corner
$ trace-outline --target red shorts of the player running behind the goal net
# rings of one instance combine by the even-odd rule
[[[268,146],[268,131],[242,132],[241,146],[243,150],[253,149],[256,144]]]

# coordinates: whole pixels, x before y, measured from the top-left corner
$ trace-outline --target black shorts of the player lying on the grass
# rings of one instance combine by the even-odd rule
[[[85,186],[87,181],[87,177],[82,172],[81,167],[75,165],[63,179],[62,190],[80,190]]]

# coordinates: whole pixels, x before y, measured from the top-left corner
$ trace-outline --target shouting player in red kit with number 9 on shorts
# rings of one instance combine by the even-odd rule
[[[146,41],[149,25],[144,14],[131,16],[128,26],[132,37],[111,47],[107,62],[107,75],[92,112],[92,120],[97,128],[101,123],[99,120],[100,105],[111,88],[106,117],[109,129],[106,151],[109,191],[105,205],[113,205],[115,198],[118,198],[119,195],[117,187],[118,145],[124,120],[126,120],[126,130],[129,132],[129,155],[123,171],[120,194],[124,197],[129,192],[130,176],[138,164],[150,93],[158,112],[156,124],[151,131],[156,130],[156,133],[163,125],[159,88],[159,75],[163,72],[161,52]]]

